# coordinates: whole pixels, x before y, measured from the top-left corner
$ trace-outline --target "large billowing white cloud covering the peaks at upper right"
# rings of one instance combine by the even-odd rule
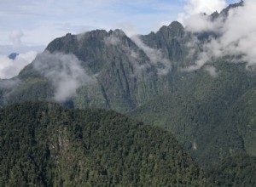
[[[230,9],[228,17],[217,20],[206,20],[207,23],[201,23],[205,27],[198,27],[195,31],[191,28],[198,26],[198,20],[190,19],[189,31],[205,32],[211,31],[217,33],[218,37],[209,37],[201,43],[195,39],[195,45],[201,45],[201,53],[197,55],[194,65],[190,65],[187,70],[196,70],[203,65],[211,62],[212,59],[224,57],[226,55],[241,55],[240,61],[247,62],[247,66],[256,65],[256,2],[247,0],[244,6]],[[206,16],[205,16],[206,17]],[[194,46],[195,47],[195,46]],[[237,59],[236,61],[237,62]]]

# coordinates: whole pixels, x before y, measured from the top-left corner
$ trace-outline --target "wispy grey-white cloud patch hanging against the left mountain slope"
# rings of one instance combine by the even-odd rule
[[[33,67],[42,76],[49,78],[55,87],[55,100],[63,102],[76,94],[76,90],[95,81],[81,66],[73,54],[38,54]]]

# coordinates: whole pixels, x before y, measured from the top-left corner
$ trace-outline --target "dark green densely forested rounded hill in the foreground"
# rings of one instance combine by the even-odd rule
[[[113,111],[52,103],[0,111],[1,186],[206,186],[170,133]]]

